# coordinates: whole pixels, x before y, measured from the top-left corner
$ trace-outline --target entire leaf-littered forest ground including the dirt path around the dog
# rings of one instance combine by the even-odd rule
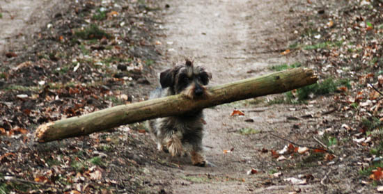
[[[382,189],[381,1],[25,2],[0,6],[0,193]],[[157,152],[144,123],[34,140],[39,124],[148,99],[185,58],[212,86],[292,67],[320,80],[206,108],[214,167]]]

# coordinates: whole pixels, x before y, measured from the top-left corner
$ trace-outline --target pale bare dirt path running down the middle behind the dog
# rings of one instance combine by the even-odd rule
[[[165,17],[167,62],[182,62],[187,56],[194,58],[196,64],[212,72],[212,85],[263,74],[268,65],[295,62],[295,58],[281,57],[279,51],[288,47],[288,31],[283,28],[287,26],[289,2],[171,1]],[[245,111],[246,118],[255,122],[230,117],[234,108]],[[278,118],[280,111],[286,112],[288,107],[269,106],[262,113],[252,112],[254,108],[247,106],[247,102],[237,102],[205,110],[208,124],[204,144],[210,147],[206,155],[217,168],[184,165],[183,170],[156,173],[174,179],[173,193],[263,193],[264,189],[258,186],[270,178],[269,171],[275,170],[275,165],[267,159],[271,158],[269,154],[265,156],[258,150],[272,147],[275,140],[262,138],[262,132],[278,129],[287,133],[288,126],[278,122]],[[235,133],[243,128],[255,129],[259,134]],[[224,149],[232,148],[232,153],[223,154]],[[263,172],[248,176],[246,172],[251,168]],[[294,189],[280,186],[267,193]]]

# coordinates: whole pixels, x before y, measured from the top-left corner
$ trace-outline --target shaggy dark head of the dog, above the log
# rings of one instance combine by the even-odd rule
[[[193,62],[186,60],[185,65],[176,65],[165,70],[159,76],[162,88],[170,88],[172,95],[185,93],[194,99],[203,97],[206,94],[205,87],[208,85],[212,74],[205,71],[204,67],[193,66]]]

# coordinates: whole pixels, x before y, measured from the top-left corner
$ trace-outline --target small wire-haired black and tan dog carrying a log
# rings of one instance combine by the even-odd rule
[[[162,88],[151,92],[150,99],[180,93],[191,99],[208,97],[204,86],[208,85],[211,77],[204,67],[194,67],[192,61],[186,60],[185,65],[175,65],[160,74]],[[150,120],[149,128],[159,151],[167,149],[171,156],[189,152],[193,165],[206,166],[208,162],[202,154],[203,122],[203,111],[199,110]]]

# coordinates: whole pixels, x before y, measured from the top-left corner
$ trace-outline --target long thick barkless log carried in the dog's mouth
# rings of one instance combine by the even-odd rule
[[[123,124],[180,115],[228,102],[286,92],[311,85],[317,80],[313,70],[299,67],[210,87],[210,95],[204,99],[190,99],[180,94],[114,106],[79,117],[42,124],[36,129],[36,140],[45,143],[84,136]]]

